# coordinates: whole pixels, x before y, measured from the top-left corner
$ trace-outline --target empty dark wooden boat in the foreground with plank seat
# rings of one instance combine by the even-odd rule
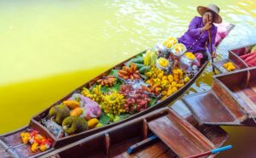
[[[150,140],[152,134],[158,138]],[[185,105],[177,101],[172,108],[154,110],[42,157],[186,157],[218,148],[228,137],[221,127],[198,125]],[[129,155],[131,145],[137,150]]]

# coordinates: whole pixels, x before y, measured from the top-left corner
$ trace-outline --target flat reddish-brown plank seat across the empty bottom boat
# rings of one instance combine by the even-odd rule
[[[149,121],[148,128],[179,157],[214,149],[211,141],[173,111]]]

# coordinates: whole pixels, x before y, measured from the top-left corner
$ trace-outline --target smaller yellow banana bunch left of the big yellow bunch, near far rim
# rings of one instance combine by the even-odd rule
[[[92,91],[90,92],[89,89],[84,87],[83,91],[82,91],[82,95],[84,95],[85,97],[88,97],[88,98],[96,101],[96,103],[100,104],[102,102],[102,97],[103,97],[101,88],[102,88],[102,85],[96,85],[96,87],[94,87],[92,89]]]

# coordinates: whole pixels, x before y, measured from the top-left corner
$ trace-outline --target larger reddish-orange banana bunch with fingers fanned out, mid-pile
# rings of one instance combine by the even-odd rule
[[[118,74],[119,77],[123,78],[124,80],[131,79],[131,81],[133,81],[141,78],[139,71],[137,71],[137,65],[134,63],[131,63],[131,67],[123,66],[122,70],[119,70]]]

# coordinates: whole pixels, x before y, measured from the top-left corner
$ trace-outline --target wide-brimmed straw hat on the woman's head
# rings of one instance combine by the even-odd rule
[[[212,13],[214,13],[214,17],[215,17],[215,20],[213,21],[214,23],[221,23],[222,22],[222,19],[221,17],[219,16],[218,12],[219,12],[219,8],[217,5],[214,5],[214,4],[209,4],[207,7],[204,7],[204,6],[198,6],[197,7],[197,11],[199,14],[201,14],[201,16],[203,14],[206,13],[206,11],[212,11]]]

